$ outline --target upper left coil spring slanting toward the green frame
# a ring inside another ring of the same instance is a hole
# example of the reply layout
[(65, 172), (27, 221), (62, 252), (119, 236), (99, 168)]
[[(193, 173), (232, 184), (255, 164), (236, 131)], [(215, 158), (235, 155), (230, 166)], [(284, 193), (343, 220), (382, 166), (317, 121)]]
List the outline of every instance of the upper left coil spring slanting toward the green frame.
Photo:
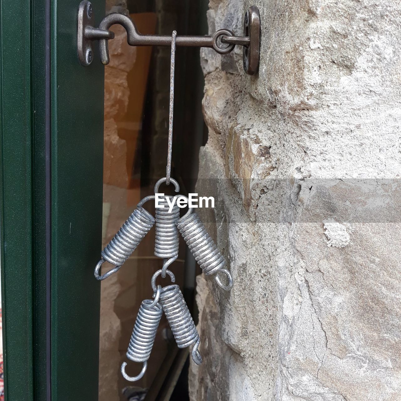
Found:
[[(146, 199), (146, 198), (144, 198)], [(143, 200), (141, 201), (143, 202)], [(98, 280), (104, 280), (109, 275), (115, 273), (121, 265), (130, 257), (132, 252), (142, 241), (143, 237), (153, 227), (154, 217), (146, 211), (142, 206), (135, 209), (123, 226), (119, 229), (114, 238), (101, 251), (101, 259), (95, 267), (95, 277)], [(105, 273), (99, 275), (99, 269), (105, 262), (109, 262), (115, 267)]]

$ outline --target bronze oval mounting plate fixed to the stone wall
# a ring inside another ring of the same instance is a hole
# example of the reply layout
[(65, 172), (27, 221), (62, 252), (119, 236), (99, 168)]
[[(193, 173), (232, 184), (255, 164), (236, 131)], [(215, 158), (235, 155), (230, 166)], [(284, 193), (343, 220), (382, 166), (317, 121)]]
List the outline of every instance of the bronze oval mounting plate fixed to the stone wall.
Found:
[(249, 7), (244, 17), (244, 36), (249, 36), (249, 46), (243, 47), (244, 70), (255, 75), (259, 68), (260, 15), (256, 6)]

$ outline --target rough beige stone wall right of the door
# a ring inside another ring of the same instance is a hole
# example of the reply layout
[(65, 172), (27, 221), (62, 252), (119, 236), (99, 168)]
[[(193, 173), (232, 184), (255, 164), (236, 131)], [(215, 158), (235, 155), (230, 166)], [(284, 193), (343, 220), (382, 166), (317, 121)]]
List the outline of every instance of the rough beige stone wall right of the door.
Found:
[[(235, 285), (198, 277), (191, 399), (399, 400), (401, 4), (252, 4), (259, 75), (202, 51), (200, 214)], [(252, 4), (212, 0), (211, 32)]]

